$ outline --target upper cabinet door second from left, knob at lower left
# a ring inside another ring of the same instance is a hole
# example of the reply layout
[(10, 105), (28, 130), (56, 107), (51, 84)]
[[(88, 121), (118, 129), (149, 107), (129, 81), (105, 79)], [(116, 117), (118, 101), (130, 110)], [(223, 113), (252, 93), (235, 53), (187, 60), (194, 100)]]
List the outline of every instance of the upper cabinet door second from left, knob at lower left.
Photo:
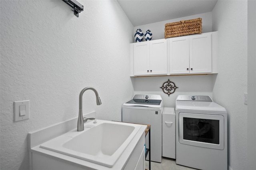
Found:
[(166, 39), (150, 42), (150, 73), (167, 74), (167, 41)]

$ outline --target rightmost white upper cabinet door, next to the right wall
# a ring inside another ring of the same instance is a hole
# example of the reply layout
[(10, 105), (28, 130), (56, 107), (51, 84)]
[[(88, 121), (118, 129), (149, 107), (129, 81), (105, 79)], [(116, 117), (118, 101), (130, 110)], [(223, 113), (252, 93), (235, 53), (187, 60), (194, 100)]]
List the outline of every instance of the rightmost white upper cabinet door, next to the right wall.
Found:
[(212, 72), (211, 33), (192, 35), (189, 41), (190, 73)]

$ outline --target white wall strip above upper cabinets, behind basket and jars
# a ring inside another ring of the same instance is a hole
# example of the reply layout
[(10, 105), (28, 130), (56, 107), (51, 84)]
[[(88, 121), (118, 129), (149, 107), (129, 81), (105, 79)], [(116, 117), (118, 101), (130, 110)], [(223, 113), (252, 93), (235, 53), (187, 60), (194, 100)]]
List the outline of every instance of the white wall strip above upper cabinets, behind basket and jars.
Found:
[[(207, 13), (197, 14), (193, 16), (186, 16), (182, 18), (176, 18), (172, 20), (166, 20), (166, 21), (160, 21), (160, 22), (150, 23), (146, 25), (136, 26), (134, 27), (134, 34), (136, 33), (136, 30), (138, 28), (140, 28), (144, 34), (149, 29), (153, 34), (152, 40), (162, 39), (164, 38), (164, 25), (166, 23), (178, 22), (180, 20), (191, 20), (195, 18), (202, 18), (202, 33), (207, 33), (212, 31), (212, 12), (207, 12)], [(145, 38), (143, 39), (143, 41), (145, 41)]]

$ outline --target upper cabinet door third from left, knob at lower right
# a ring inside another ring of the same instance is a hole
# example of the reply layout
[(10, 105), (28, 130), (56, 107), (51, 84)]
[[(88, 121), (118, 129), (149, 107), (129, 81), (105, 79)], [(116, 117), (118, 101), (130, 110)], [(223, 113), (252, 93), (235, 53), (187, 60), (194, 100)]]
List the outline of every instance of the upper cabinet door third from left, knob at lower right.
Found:
[(170, 74), (189, 73), (189, 37), (169, 39)]

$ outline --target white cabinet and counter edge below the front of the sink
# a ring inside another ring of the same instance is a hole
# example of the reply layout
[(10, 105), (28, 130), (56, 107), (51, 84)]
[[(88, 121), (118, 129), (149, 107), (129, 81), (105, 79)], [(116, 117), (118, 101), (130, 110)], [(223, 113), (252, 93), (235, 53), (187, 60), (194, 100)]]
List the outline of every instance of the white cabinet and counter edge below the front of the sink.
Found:
[(95, 165), (84, 160), (63, 156), (54, 152), (44, 152), (43, 150), (39, 150), (38, 152), (34, 149), (31, 153), (32, 164), (30, 170), (145, 170), (144, 143), (145, 136), (142, 134), (128, 160), (121, 160), (122, 162), (126, 162), (126, 164), (123, 166), (119, 164), (119, 161), (113, 168)]

